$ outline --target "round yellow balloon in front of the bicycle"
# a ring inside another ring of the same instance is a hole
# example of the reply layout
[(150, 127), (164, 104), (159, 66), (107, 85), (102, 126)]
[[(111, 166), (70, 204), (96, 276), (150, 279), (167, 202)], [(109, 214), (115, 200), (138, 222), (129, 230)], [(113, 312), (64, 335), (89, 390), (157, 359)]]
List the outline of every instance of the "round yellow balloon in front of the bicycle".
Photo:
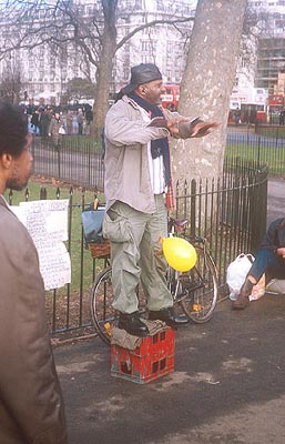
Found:
[(197, 253), (194, 246), (182, 238), (164, 238), (163, 254), (174, 270), (189, 271), (195, 266)]

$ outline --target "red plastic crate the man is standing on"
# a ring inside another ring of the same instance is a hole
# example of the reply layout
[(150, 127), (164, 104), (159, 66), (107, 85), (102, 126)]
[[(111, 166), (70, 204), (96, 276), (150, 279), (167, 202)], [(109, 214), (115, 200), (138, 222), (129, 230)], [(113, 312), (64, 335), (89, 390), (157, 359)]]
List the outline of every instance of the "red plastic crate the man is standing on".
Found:
[(175, 331), (146, 336), (134, 351), (111, 345), (111, 375), (145, 384), (174, 371)]

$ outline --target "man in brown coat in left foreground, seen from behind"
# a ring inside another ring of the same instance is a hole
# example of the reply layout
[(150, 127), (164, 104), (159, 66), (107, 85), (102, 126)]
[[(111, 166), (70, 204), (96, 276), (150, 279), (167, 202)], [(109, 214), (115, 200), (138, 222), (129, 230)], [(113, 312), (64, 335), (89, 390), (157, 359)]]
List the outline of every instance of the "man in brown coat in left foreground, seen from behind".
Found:
[(0, 443), (67, 444), (37, 250), (3, 198), (27, 185), (31, 140), (21, 112), (0, 102)]

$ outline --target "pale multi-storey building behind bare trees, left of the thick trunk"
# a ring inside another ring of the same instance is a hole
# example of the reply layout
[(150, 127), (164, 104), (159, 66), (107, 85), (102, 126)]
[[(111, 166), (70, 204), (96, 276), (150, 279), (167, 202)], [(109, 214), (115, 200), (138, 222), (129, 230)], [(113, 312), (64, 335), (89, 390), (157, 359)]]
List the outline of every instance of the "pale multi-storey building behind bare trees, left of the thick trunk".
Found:
[[(62, 11), (42, 9), (33, 10), (22, 16), (18, 24), (11, 16), (0, 18), (0, 42), (2, 48), (9, 47), (11, 39), (27, 44), (16, 49), (0, 60), (0, 79), (17, 78), (21, 83), (21, 98), (33, 99), (45, 103), (64, 102), (68, 82), (74, 78), (89, 79), (95, 83), (96, 53), (100, 53), (98, 36), (103, 32), (102, 10), (99, 0), (73, 0), (71, 11), (75, 11), (72, 24)], [(177, 0), (121, 0), (118, 8), (116, 32), (118, 42), (138, 27), (147, 22), (172, 21), (194, 16), (195, 1)], [(61, 12), (61, 13), (60, 13)], [(80, 18), (80, 20), (79, 20)], [(95, 18), (96, 26), (92, 26)], [(13, 23), (13, 26), (11, 24)], [(167, 82), (180, 82), (185, 63), (186, 44), (193, 21), (169, 24), (155, 24), (143, 28), (128, 40), (115, 53), (112, 84), (110, 92), (118, 91), (129, 80), (130, 67), (141, 62), (154, 62), (165, 73)], [(69, 27), (70, 26), (70, 34)], [(80, 38), (85, 39), (86, 52), (77, 39), (68, 37), (75, 34), (79, 28)], [(49, 39), (48, 29), (53, 30), (53, 39)], [(43, 29), (45, 36), (38, 38), (35, 30)], [(59, 38), (54, 33), (58, 30)], [(85, 34), (84, 34), (85, 33)], [(24, 36), (24, 37), (23, 37)], [(83, 36), (83, 37), (82, 37)], [(84, 37), (85, 36), (85, 37)], [(43, 43), (39, 44), (41, 41)], [(89, 52), (91, 54), (89, 54)], [(90, 56), (90, 57), (89, 57)], [(94, 63), (90, 62), (93, 58)]]

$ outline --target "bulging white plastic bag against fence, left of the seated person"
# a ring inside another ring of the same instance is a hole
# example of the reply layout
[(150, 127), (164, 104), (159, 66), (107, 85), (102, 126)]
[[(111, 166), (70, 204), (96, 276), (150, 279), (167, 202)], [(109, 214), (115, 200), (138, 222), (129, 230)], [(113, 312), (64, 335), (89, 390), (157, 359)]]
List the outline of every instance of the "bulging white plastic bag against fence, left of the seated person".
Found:
[(226, 283), (230, 289), (230, 299), (235, 301), (240, 294), (245, 278), (254, 262), (252, 254), (238, 254), (226, 270)]

